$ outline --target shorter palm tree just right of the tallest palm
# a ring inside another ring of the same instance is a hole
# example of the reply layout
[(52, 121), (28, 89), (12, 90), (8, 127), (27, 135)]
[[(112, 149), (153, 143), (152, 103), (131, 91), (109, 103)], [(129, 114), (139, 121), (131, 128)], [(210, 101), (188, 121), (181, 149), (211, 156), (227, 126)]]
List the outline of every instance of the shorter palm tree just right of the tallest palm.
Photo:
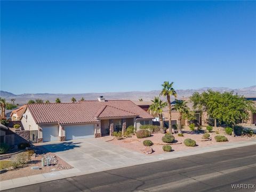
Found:
[(187, 106), (187, 101), (183, 101), (183, 100), (177, 100), (175, 99), (175, 104), (173, 106), (173, 110), (176, 110), (179, 112), (178, 115), (178, 133), (181, 133), (181, 119), (182, 116), (186, 117), (189, 115), (189, 108)]

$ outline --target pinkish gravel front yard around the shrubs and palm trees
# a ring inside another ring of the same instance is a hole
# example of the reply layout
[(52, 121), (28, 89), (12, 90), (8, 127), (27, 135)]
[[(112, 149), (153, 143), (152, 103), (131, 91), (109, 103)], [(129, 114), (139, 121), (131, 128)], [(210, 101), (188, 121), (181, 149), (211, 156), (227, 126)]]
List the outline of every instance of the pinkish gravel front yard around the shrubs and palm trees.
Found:
[[(205, 127), (203, 127), (203, 131), (206, 132)], [(216, 134), (215, 131), (219, 131), (219, 134)], [(193, 148), (193, 147), (187, 147), (184, 145), (183, 141), (187, 138), (190, 138), (190, 139), (193, 139), (196, 141), (196, 144), (197, 144), (196, 148), (197, 147), (207, 147), (207, 146), (212, 146), (212, 145), (222, 145), (223, 143), (225, 143), (225, 142), (216, 142), (214, 139), (215, 135), (225, 135), (228, 138), (228, 142), (247, 141), (247, 140), (251, 140), (252, 138), (256, 138), (255, 135), (254, 135), (254, 137), (251, 137), (251, 138), (244, 137), (244, 136), (243, 137), (229, 136), (225, 133), (225, 130), (221, 127), (217, 127), (217, 129), (216, 128), (213, 129), (213, 132), (210, 133), (210, 138), (211, 138), (210, 141), (202, 141), (203, 132), (201, 132), (201, 133), (191, 132), (191, 131), (189, 131), (188, 127), (186, 127), (186, 129), (183, 131), (184, 137), (178, 137), (177, 133), (175, 133), (173, 135), (175, 137), (175, 140), (177, 140), (176, 142), (172, 143), (172, 145), (171, 145), (172, 149), (175, 151)], [(154, 143), (154, 145), (151, 146), (154, 150), (154, 153), (151, 155), (169, 153), (169, 152), (164, 152), (162, 149), (163, 145), (161, 145), (161, 144), (167, 144), (167, 143), (162, 142), (163, 136), (164, 136), (164, 134), (162, 134), (162, 133), (152, 133), (151, 136), (148, 138), (137, 139), (137, 137), (135, 135), (133, 135), (131, 138), (126, 138), (126, 139), (122, 139), (122, 140), (114, 139), (114, 140), (111, 140), (108, 142), (113, 143), (114, 145), (118, 145), (118, 146), (121, 146), (121, 147), (124, 147), (127, 149), (131, 149), (131, 150), (143, 153), (143, 151), (146, 148), (145, 146), (143, 146), (143, 141), (151, 140)]]

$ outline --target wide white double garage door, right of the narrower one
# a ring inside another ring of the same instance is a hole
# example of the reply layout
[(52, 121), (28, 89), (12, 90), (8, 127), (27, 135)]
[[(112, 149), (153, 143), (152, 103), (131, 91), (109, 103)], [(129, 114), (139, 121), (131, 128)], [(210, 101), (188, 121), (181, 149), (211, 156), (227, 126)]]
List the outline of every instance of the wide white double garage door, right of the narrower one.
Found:
[(94, 138), (94, 124), (66, 125), (66, 140)]

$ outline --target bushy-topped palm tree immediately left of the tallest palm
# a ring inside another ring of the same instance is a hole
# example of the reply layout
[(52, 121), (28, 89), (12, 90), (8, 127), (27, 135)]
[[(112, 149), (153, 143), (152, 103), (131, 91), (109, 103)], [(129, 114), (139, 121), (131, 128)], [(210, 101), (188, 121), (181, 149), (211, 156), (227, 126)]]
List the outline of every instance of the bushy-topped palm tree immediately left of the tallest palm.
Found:
[(161, 99), (159, 99), (159, 97), (155, 97), (154, 100), (151, 101), (152, 104), (149, 106), (148, 110), (157, 113), (160, 120), (160, 127), (163, 128), (163, 108), (167, 106), (167, 103), (163, 102)]

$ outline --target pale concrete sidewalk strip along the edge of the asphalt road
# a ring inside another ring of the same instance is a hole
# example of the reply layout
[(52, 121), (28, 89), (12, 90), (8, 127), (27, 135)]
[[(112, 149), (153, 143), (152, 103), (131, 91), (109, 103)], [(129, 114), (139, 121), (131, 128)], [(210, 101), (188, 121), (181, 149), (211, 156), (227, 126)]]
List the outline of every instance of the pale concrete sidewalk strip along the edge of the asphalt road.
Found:
[[(105, 167), (102, 166), (102, 167), (98, 167), (98, 169), (94, 169), (94, 170), (81, 171), (77, 168), (74, 168), (74, 169), (70, 169), (70, 170), (55, 171), (55, 172), (50, 172), (50, 173), (31, 175), (29, 177), (1, 181), (0, 189), (1, 190), (11, 189), (11, 188), (16, 188), (16, 187), (21, 187), (21, 186), (33, 185), (35, 183), (59, 180), (59, 179), (64, 179), (64, 178), (68, 178), (68, 177), (75, 177), (75, 176), (83, 175), (83, 174), (89, 174), (89, 173), (117, 169), (117, 168), (122, 168), (122, 167), (127, 167), (127, 166), (163, 161), (166, 159), (172, 159), (172, 158), (178, 158), (178, 157), (184, 157), (184, 156), (196, 155), (196, 154), (203, 154), (203, 153), (209, 153), (212, 151), (225, 150), (225, 149), (244, 147), (244, 146), (250, 146), (250, 145), (256, 145), (256, 139), (252, 139), (250, 141), (224, 143), (223, 145), (215, 145), (215, 146), (211, 146), (211, 147), (191, 148), (188, 150), (173, 151), (171, 153), (150, 155), (150, 156), (143, 155), (143, 154), (140, 154), (137, 152), (133, 152), (133, 153), (129, 154), (129, 158), (132, 161), (127, 164), (120, 162), (120, 163), (114, 164), (113, 166), (105, 166)], [(139, 159), (138, 159), (138, 156), (140, 157)], [(141, 157), (143, 157), (143, 158), (141, 158)]]

